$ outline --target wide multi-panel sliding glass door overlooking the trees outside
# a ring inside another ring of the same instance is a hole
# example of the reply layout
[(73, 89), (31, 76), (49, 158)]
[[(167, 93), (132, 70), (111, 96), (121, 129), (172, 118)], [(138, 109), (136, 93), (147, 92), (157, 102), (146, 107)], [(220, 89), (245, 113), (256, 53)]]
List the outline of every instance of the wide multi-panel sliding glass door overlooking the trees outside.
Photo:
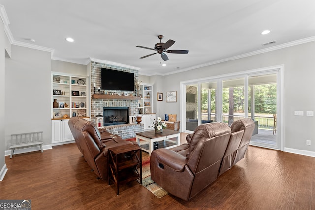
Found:
[(193, 132), (198, 125), (215, 121), (230, 126), (235, 120), (251, 118), (255, 123), (251, 144), (280, 149), (278, 70), (184, 83), (182, 131)]

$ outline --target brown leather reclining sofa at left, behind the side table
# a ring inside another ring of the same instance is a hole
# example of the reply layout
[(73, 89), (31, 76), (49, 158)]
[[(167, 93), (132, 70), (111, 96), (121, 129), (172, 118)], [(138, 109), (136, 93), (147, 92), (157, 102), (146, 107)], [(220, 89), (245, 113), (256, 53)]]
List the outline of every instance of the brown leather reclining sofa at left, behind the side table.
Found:
[[(138, 145), (125, 141), (117, 135), (111, 135), (106, 130), (103, 130), (102, 132), (105, 133), (101, 135), (94, 122), (79, 117), (70, 118), (68, 124), (84, 159), (102, 180), (107, 179), (108, 148), (126, 144)], [(102, 139), (101, 136), (104, 138)]]

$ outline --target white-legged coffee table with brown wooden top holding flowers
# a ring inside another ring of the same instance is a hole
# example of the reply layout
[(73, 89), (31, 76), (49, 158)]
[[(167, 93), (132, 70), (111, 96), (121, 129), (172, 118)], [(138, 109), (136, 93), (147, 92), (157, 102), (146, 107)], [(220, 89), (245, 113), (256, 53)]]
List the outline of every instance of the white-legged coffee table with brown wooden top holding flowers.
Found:
[(151, 152), (153, 151), (153, 142), (163, 141), (170, 138), (176, 138), (176, 145), (166, 148), (177, 147), (180, 144), (180, 132), (175, 130), (163, 129), (162, 133), (155, 133), (154, 130), (136, 133), (136, 140), (139, 145), (140, 139), (149, 142), (149, 150), (142, 148), (142, 150), (149, 152), (149, 155), (151, 155)]

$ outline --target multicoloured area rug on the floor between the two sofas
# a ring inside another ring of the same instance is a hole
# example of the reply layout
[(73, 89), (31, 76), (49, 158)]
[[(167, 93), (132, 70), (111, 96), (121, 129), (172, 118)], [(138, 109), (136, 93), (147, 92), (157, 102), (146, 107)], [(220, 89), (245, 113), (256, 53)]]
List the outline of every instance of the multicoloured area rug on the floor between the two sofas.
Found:
[[(127, 141), (136, 141), (135, 138), (125, 139)], [(141, 142), (140, 142), (141, 145)], [(140, 179), (137, 180), (140, 183)], [(162, 187), (158, 186), (153, 180), (151, 180), (150, 174), (150, 156), (147, 152), (142, 151), (142, 186), (152, 192), (158, 198), (162, 198), (167, 195)]]

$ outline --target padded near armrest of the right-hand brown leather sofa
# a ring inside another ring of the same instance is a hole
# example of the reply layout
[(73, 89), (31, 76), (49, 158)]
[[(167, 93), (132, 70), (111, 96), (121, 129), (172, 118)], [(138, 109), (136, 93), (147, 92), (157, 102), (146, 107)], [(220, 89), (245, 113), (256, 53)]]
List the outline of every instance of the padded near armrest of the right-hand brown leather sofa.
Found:
[[(165, 148), (160, 148), (158, 150), (153, 150), (156, 159), (164, 165), (172, 168), (174, 171), (183, 171), (187, 163), (187, 158), (176, 153), (175, 151), (168, 150)], [(151, 154), (151, 157), (153, 155)]]

